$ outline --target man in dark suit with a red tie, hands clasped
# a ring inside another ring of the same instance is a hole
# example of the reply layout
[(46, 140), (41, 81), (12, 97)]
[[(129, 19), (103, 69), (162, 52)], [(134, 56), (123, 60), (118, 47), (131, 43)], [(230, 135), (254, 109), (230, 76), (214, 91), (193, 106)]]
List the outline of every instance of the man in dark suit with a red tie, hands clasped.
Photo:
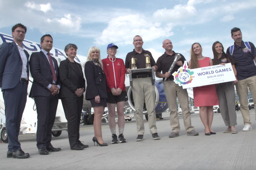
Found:
[(49, 152), (61, 150), (51, 144), (61, 82), (57, 60), (50, 55), (53, 48), (52, 36), (43, 35), (40, 44), (42, 50), (32, 53), (29, 60), (31, 76), (34, 79), (29, 97), (35, 99), (37, 110), (36, 146), (40, 155), (47, 155)]

